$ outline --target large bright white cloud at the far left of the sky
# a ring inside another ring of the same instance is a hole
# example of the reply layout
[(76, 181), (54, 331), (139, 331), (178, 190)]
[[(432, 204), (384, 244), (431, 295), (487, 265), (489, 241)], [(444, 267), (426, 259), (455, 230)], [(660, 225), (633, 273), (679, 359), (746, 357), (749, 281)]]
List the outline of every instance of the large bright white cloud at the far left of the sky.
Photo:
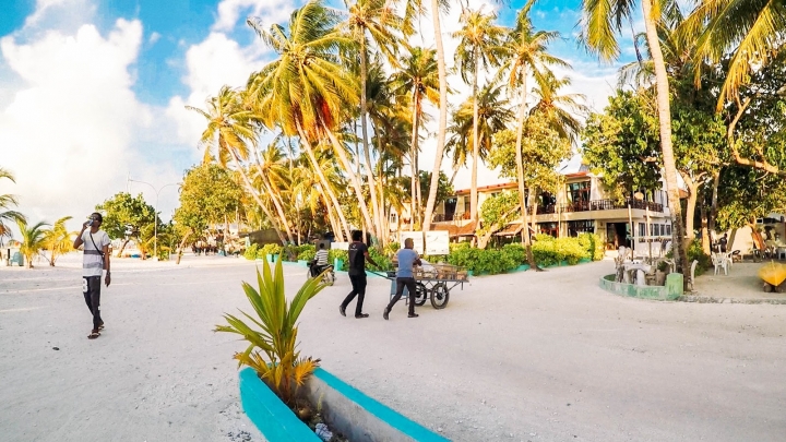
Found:
[(0, 146), (13, 153), (3, 167), (32, 220), (90, 213), (119, 190), (133, 134), (152, 118), (130, 89), (141, 38), (139, 22), (118, 20), (106, 38), (83, 25), (74, 35), (0, 40), (23, 82), (0, 109)]

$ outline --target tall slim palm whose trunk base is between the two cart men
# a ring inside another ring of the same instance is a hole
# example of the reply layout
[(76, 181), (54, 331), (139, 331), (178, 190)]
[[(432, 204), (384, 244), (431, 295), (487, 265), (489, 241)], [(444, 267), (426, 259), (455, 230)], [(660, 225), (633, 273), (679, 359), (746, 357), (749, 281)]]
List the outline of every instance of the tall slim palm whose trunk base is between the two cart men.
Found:
[(380, 204), (378, 201), (377, 183), (373, 179), (371, 155), (368, 142), (368, 36), (376, 43), (377, 48), (388, 58), (391, 65), (397, 65), (397, 55), (401, 38), (397, 32), (403, 29), (404, 22), (396, 15), (393, 5), (388, 0), (357, 0), (348, 8), (349, 15), (344, 23), (352, 38), (359, 44), (360, 49), (360, 128), (362, 131), (364, 159), (366, 163), (367, 181), (371, 193), (371, 207), (373, 210), (377, 236), (386, 242), (388, 235), (382, 229)]

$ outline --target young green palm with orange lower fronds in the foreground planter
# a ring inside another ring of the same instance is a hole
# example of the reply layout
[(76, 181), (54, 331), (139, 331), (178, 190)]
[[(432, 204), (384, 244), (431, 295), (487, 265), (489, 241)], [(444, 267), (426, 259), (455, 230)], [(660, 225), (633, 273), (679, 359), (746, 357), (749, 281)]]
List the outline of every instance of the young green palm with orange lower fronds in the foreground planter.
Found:
[[(266, 262), (261, 274), (257, 270), (257, 283), (259, 290), (248, 283), (242, 285), (255, 314), (240, 313), (250, 323), (227, 313), (224, 319), (228, 325), (216, 325), (215, 331), (235, 333), (248, 341), (249, 346), (243, 353), (235, 354), (235, 359), (240, 366), (254, 369), (285, 404), (294, 406), (298, 387), (319, 367), (319, 359), (301, 358), (297, 350), (297, 320), (309, 299), (327, 285), (322, 283), (321, 277), (309, 278), (287, 303), (281, 256), (274, 273)], [(254, 325), (261, 330), (254, 330)]]

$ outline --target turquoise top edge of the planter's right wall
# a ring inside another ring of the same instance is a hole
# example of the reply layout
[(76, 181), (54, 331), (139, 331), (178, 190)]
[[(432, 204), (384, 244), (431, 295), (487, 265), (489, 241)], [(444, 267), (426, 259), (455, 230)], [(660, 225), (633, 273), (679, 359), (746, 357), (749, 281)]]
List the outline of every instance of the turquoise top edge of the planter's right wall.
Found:
[(357, 404), (360, 408), (364, 408), (366, 411), (370, 413), (378, 419), (382, 420), (383, 422), (388, 423), (389, 426), (402, 432), (404, 435), (407, 435), (415, 441), (450, 442), (450, 439), (439, 435), (433, 431), (429, 430), (428, 428), (421, 426), (420, 423), (417, 423), (414, 420), (396, 413), (394, 409), (380, 403), (377, 399), (369, 397), (361, 391), (347, 384), (346, 382), (342, 381), (341, 379), (336, 378), (335, 375), (322, 368), (318, 368), (314, 371), (313, 375), (327, 384), (327, 386), (330, 386), (331, 389), (343, 394), (347, 399)]

